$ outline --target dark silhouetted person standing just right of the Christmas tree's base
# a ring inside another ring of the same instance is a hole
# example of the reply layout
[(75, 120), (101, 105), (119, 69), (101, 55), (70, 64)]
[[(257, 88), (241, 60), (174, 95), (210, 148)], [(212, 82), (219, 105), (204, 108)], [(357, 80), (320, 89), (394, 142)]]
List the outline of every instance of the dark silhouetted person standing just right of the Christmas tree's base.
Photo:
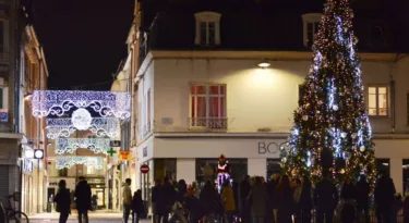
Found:
[(375, 187), (375, 203), (377, 222), (389, 223), (392, 218), (392, 207), (394, 205), (394, 196), (396, 189), (392, 178), (385, 173), (382, 173)]

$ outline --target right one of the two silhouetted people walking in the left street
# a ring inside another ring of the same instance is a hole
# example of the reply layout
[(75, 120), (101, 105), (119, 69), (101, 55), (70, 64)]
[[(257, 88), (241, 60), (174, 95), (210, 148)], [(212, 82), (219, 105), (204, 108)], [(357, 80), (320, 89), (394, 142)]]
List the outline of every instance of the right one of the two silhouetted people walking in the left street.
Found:
[(91, 208), (91, 187), (88, 183), (85, 181), (84, 176), (79, 177), (79, 183), (75, 186), (75, 206), (76, 210), (79, 211), (79, 223), (83, 222), (88, 223), (88, 210), (92, 210)]

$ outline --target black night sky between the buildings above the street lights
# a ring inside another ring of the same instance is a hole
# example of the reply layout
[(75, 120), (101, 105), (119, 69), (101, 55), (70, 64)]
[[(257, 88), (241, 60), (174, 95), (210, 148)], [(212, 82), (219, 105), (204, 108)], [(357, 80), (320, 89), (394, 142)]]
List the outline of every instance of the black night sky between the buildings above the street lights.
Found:
[(34, 25), (49, 88), (109, 89), (127, 57), (133, 7), (134, 0), (36, 0)]

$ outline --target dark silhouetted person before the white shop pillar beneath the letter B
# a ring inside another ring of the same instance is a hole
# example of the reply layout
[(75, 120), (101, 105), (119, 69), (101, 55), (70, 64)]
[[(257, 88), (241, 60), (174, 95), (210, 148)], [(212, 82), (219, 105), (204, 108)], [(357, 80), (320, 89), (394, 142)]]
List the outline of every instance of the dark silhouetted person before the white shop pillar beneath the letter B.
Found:
[(257, 176), (250, 193), (251, 216), (253, 223), (264, 223), (267, 213), (268, 194), (263, 178)]

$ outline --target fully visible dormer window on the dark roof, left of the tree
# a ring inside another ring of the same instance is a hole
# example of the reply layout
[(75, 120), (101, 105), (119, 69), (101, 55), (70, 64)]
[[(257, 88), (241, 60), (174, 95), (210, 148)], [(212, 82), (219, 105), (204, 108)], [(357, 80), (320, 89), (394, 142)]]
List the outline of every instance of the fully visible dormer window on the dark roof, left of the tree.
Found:
[(217, 12), (199, 12), (194, 14), (196, 20), (196, 36), (194, 44), (199, 46), (220, 45), (220, 17)]

